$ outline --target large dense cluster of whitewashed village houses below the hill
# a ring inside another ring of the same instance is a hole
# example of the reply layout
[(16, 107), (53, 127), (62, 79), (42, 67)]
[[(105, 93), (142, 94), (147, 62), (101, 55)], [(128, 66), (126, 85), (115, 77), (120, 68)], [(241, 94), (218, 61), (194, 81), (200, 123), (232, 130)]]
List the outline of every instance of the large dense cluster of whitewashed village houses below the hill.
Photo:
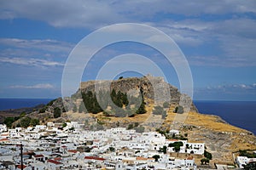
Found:
[[(170, 146), (175, 142), (183, 143), (178, 152), (188, 153), (187, 158), (170, 156), (177, 151)], [(79, 122), (14, 129), (0, 125), (0, 169), (21, 169), (21, 144), (24, 170), (196, 169), (193, 154), (202, 155), (205, 150), (203, 143), (166, 139), (157, 132), (137, 133), (125, 127), (90, 131)]]

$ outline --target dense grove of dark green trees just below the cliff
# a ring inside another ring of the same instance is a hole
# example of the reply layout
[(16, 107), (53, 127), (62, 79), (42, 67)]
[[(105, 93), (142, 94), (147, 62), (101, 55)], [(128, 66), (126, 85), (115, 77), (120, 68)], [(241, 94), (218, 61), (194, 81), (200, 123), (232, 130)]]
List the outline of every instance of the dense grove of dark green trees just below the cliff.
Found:
[[(128, 96), (120, 91), (116, 92), (115, 89), (111, 93), (101, 90), (98, 94), (88, 91), (82, 93), (82, 98), (84, 103), (79, 105), (79, 112), (96, 114), (103, 111), (105, 116), (117, 117), (131, 117), (147, 112), (143, 97)], [(134, 105), (134, 107), (131, 107), (131, 105)], [(107, 111), (108, 106), (111, 107), (111, 111)]]

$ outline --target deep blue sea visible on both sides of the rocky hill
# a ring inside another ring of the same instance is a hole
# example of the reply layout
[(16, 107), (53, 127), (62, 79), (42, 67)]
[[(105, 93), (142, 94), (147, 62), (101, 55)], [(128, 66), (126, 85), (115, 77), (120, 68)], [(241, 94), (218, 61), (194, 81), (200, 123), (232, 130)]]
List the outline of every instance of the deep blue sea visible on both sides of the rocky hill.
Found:
[[(47, 104), (52, 99), (0, 99), (0, 111)], [(194, 101), (198, 111), (216, 115), (236, 127), (256, 134), (256, 101)]]

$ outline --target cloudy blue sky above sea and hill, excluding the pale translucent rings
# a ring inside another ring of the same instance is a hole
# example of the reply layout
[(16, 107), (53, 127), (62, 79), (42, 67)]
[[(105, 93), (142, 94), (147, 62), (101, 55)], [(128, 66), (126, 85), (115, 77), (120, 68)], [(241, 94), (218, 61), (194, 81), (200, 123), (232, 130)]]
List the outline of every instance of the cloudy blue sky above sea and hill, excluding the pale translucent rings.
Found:
[[(254, 0), (2, 0), (0, 98), (60, 97), (62, 73), (73, 48), (92, 32), (119, 23), (152, 26), (172, 38), (189, 63), (193, 99), (256, 100)], [(99, 50), (81, 81), (96, 79), (102, 66), (121, 54), (153, 60), (166, 81), (180, 88), (177, 72), (163, 54), (138, 42)], [(126, 62), (132, 61), (137, 62)], [(147, 65), (142, 61), (141, 67)], [(119, 76), (142, 75), (126, 71)]]

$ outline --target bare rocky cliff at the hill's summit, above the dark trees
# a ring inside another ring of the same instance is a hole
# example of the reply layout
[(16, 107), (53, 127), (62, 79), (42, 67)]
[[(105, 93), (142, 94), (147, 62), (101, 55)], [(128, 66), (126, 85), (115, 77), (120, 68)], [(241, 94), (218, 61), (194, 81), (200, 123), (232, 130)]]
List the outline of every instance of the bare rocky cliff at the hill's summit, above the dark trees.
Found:
[[(191, 101), (189, 96), (180, 94), (178, 89), (165, 82), (163, 77), (131, 77), (115, 81), (81, 82), (77, 94), (80, 94), (81, 92), (86, 93), (88, 91), (95, 92), (96, 89), (108, 91), (114, 89), (116, 92), (120, 91), (129, 95), (137, 95), (141, 92), (146, 101), (150, 101), (156, 105), (162, 105), (165, 101), (171, 105), (179, 105), (181, 95), (188, 100), (187, 102)], [(194, 104), (191, 105), (190, 111), (197, 112)]]

